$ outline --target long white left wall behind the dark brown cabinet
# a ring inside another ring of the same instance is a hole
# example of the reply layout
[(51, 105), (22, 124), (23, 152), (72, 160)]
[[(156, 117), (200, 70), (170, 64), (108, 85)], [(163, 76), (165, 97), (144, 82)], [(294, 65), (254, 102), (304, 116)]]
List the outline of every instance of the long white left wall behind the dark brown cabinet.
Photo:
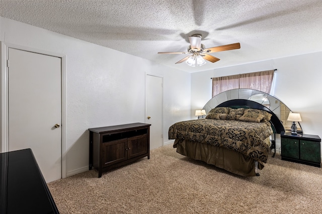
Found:
[(190, 74), (0, 17), (0, 41), (66, 55), (66, 172), (88, 170), (88, 128), (145, 122), (145, 75), (164, 77), (164, 142), (190, 119)]

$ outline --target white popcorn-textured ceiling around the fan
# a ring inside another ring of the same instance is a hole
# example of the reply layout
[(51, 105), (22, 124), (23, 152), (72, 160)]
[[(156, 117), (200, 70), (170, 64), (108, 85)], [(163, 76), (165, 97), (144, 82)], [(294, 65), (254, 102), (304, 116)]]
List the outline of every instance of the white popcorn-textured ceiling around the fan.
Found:
[[(0, 16), (187, 72), (322, 51), (321, 0), (0, 0)], [(188, 37), (202, 34), (212, 53), (201, 67), (175, 64)]]

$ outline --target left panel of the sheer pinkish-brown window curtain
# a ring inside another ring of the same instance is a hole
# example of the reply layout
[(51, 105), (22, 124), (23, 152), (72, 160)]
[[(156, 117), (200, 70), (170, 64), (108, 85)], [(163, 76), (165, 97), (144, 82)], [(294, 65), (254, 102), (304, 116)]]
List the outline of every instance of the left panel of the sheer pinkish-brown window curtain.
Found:
[(212, 78), (212, 97), (221, 92), (236, 88), (239, 88), (239, 74)]

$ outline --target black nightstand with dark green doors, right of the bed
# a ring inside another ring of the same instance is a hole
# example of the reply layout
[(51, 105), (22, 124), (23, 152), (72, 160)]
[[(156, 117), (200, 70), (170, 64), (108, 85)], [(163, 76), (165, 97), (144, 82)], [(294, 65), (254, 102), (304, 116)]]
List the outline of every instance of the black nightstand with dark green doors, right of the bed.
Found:
[(281, 132), (282, 160), (321, 167), (321, 138)]

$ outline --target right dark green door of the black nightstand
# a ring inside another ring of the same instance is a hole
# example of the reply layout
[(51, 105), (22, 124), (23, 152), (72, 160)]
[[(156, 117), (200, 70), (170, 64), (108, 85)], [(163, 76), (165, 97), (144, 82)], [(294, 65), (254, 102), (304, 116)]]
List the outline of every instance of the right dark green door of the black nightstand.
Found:
[(320, 162), (320, 142), (300, 140), (300, 159), (310, 162)]

